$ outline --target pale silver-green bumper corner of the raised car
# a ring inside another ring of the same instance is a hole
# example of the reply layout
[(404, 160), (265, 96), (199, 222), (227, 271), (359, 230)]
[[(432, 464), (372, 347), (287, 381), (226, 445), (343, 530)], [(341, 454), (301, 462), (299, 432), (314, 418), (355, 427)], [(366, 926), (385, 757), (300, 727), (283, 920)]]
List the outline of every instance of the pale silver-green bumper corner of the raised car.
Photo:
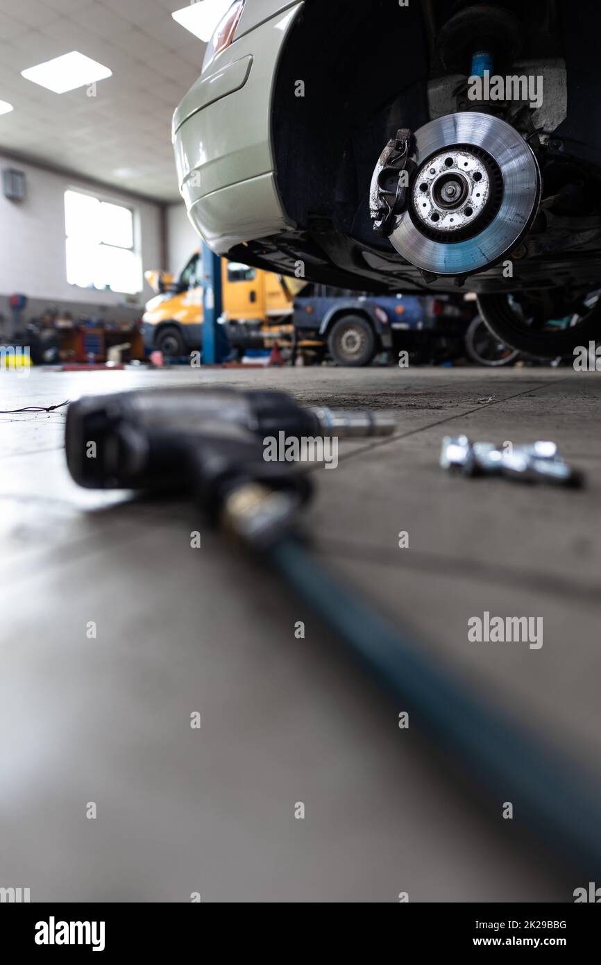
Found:
[(263, 0), (263, 6), (267, 14), (284, 9), (220, 54), (174, 115), (179, 191), (192, 224), (218, 254), (293, 227), (278, 194), (271, 97), (287, 32), (303, 3)]

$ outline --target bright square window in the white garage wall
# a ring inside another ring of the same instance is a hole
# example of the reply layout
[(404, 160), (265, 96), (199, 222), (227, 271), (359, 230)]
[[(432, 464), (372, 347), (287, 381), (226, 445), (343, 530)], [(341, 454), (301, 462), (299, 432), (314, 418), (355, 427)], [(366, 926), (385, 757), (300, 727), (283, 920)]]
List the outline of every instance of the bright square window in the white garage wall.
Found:
[(65, 233), (69, 285), (126, 294), (142, 290), (131, 208), (66, 191)]

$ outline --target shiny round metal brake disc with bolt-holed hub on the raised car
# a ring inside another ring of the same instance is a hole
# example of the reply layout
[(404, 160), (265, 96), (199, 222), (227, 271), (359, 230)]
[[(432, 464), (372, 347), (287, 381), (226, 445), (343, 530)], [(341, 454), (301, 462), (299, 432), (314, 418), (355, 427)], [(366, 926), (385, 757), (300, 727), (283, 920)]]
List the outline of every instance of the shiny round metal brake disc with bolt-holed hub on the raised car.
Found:
[(540, 199), (532, 149), (499, 118), (465, 112), (415, 133), (417, 172), (390, 240), (436, 275), (481, 271), (526, 234)]

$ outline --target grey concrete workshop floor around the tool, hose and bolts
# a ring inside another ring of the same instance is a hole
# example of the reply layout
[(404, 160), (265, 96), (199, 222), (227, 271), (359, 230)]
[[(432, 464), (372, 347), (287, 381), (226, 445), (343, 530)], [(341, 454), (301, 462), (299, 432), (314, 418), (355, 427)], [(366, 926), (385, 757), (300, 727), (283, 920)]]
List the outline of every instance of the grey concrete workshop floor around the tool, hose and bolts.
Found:
[[(598, 769), (601, 378), (2, 372), (0, 408), (214, 382), (395, 412), (395, 437), (343, 443), (336, 471), (315, 470), (315, 549), (480, 696)], [(0, 416), (0, 886), (34, 901), (572, 900), (585, 882), (400, 731), (307, 607), (193, 506), (72, 483), (63, 426), (64, 410)], [(555, 439), (587, 488), (448, 476), (440, 441), (460, 431)], [(543, 647), (468, 643), (484, 610), (542, 616)]]

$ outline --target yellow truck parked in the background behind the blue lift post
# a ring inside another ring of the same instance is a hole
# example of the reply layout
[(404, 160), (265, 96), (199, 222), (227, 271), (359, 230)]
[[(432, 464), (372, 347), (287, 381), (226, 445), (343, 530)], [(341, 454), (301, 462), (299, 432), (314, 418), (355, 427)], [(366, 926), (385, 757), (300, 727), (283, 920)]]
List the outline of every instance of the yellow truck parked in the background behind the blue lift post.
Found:
[[(178, 278), (147, 271), (156, 295), (142, 317), (144, 344), (167, 357), (187, 355), (203, 347), (203, 260), (194, 252)], [(270, 271), (239, 262), (221, 261), (223, 317), (233, 348), (270, 345), (291, 332), (292, 293)]]

